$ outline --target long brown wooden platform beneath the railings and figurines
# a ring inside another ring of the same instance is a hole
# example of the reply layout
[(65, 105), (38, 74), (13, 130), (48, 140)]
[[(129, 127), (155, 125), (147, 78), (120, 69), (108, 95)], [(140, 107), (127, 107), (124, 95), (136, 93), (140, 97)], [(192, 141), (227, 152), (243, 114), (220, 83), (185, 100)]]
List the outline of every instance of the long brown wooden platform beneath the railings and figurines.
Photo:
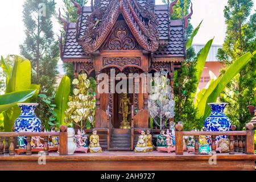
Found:
[[(216, 164), (209, 164), (212, 155), (184, 155), (163, 152), (116, 152), (60, 156), (51, 152), (46, 164), (38, 163), (39, 156), (2, 155), (0, 170), (254, 170), (256, 155), (237, 153), (217, 154)], [(43, 158), (40, 158), (43, 159)]]

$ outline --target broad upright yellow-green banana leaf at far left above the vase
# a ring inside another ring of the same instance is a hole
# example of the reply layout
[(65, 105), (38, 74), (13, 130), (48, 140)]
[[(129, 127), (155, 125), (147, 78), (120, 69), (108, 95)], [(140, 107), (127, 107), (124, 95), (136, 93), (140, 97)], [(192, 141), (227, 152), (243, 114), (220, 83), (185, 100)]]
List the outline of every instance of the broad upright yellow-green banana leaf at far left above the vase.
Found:
[[(13, 61), (13, 67), (8, 64), (8, 62)], [(6, 59), (1, 60), (1, 66), (5, 71), (6, 75), (6, 90), (5, 93), (13, 93), (22, 90), (29, 90), (29, 89), (39, 89), (39, 85), (31, 85), (31, 64), (28, 59), (25, 59), (20, 56), (9, 56)], [(9, 68), (9, 69), (6, 69)], [(11, 72), (10, 72), (11, 69)], [(36, 94), (39, 91), (34, 93), (33, 97), (36, 97)], [(27, 100), (28, 102), (30, 100)], [(11, 131), (14, 125), (14, 121), (20, 115), (20, 108), (19, 106), (15, 105), (10, 109), (3, 112), (3, 122), (5, 131)]]

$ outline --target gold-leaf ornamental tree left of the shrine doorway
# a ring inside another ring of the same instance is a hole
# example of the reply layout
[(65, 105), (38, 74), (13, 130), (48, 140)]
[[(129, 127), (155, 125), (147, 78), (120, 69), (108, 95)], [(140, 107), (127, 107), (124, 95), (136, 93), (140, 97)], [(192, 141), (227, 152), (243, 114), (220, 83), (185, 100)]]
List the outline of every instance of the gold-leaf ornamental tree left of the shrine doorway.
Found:
[(94, 126), (95, 98), (89, 93), (90, 80), (82, 73), (72, 82), (75, 86), (73, 96), (69, 96), (68, 109), (65, 111), (65, 122), (73, 123), (80, 129)]

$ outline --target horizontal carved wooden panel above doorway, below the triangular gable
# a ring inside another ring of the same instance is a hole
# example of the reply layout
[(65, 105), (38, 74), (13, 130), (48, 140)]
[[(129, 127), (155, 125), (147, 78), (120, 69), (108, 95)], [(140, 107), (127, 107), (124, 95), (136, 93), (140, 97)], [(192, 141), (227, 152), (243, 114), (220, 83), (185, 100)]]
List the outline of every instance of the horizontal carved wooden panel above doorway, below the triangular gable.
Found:
[(104, 57), (103, 67), (117, 66), (118, 68), (125, 68), (126, 65), (137, 65), (141, 67), (141, 57)]

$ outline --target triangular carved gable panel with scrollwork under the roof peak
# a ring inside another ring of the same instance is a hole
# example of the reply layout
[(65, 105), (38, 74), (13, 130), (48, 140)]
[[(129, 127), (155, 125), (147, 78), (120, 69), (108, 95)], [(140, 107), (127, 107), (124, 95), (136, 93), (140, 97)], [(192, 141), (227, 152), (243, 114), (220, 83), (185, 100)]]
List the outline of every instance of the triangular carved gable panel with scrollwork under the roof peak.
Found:
[(132, 50), (142, 49), (134, 38), (125, 20), (117, 20), (102, 50)]

